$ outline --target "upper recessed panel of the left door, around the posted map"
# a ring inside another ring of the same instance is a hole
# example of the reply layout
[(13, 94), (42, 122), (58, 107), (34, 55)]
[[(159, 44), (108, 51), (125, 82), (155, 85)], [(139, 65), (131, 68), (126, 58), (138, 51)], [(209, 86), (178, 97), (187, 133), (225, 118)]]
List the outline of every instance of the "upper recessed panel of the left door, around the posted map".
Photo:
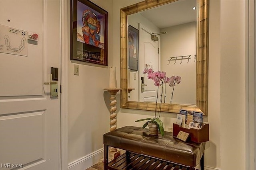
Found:
[[(26, 42), (28, 57), (0, 53), (0, 72), (4, 79), (0, 82), (0, 89), (10, 89), (1, 91), (1, 96), (42, 95), (42, 9), (40, 0), (1, 0), (1, 25), (35, 32), (40, 36), (38, 45)], [(12, 47), (18, 47), (19, 43), (20, 40), (10, 38)]]

